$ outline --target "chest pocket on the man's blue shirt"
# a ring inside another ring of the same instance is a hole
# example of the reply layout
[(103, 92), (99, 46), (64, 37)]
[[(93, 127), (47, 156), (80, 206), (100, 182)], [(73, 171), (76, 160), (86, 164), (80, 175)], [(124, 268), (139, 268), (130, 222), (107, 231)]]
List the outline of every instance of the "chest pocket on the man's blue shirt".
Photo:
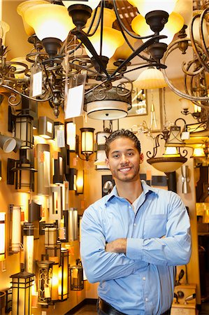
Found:
[(150, 239), (152, 237), (163, 237), (166, 235), (166, 215), (152, 214), (145, 219), (143, 237)]

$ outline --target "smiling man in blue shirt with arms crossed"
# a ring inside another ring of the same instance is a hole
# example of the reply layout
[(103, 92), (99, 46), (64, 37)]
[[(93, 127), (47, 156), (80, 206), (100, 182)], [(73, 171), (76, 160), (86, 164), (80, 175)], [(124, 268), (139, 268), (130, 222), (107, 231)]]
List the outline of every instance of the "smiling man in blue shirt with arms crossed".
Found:
[(175, 266), (189, 262), (189, 217), (180, 197), (140, 181), (140, 141), (129, 130), (106, 140), (115, 187), (82, 217), (81, 258), (99, 281), (98, 314), (170, 314)]

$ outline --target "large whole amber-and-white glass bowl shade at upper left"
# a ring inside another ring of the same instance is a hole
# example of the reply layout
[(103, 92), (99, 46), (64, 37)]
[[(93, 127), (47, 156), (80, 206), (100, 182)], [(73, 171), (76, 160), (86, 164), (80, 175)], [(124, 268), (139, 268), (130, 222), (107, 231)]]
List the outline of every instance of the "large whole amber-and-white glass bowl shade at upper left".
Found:
[(41, 41), (44, 38), (58, 38), (64, 41), (69, 31), (75, 27), (68, 10), (57, 4), (32, 6), (25, 11), (24, 18), (34, 28)]

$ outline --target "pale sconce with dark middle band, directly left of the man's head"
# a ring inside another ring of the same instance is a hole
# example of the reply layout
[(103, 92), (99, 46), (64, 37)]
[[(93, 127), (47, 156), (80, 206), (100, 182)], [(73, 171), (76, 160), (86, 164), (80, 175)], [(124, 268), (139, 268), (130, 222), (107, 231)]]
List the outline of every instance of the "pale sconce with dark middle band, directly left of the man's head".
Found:
[(110, 130), (103, 132), (96, 132), (96, 160), (94, 165), (96, 165), (97, 169), (109, 169), (106, 165), (106, 152), (104, 151), (104, 147), (106, 144), (106, 139), (110, 136)]

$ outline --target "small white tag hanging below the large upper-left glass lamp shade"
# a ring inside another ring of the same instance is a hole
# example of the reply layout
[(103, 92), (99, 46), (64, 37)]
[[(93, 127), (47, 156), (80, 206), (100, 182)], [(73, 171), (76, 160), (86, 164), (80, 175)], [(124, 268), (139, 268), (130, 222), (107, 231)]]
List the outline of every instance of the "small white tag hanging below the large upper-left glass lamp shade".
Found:
[(30, 97), (37, 97), (42, 94), (42, 78), (41, 65), (34, 64), (31, 67)]

